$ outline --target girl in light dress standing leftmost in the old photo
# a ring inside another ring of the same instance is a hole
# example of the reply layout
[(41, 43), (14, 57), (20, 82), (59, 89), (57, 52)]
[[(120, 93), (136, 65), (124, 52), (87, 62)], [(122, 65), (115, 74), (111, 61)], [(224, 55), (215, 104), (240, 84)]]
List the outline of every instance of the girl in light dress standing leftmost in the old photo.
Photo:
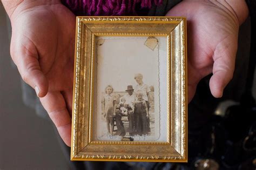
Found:
[(105, 95), (102, 99), (102, 114), (106, 118), (107, 132), (113, 135), (114, 130), (114, 105), (116, 98), (113, 95), (113, 87), (107, 85), (105, 88)]

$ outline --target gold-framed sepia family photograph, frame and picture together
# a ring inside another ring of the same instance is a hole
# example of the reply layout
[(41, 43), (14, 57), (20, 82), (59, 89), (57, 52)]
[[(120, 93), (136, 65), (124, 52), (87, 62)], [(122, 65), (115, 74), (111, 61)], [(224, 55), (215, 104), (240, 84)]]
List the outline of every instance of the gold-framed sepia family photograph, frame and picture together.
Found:
[(186, 162), (186, 19), (78, 17), (76, 32), (71, 160)]

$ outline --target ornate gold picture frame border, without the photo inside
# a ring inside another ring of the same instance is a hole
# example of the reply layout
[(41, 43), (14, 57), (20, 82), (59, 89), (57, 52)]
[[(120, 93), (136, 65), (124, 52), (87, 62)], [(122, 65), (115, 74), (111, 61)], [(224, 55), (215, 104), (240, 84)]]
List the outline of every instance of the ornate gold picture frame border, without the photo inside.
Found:
[[(99, 36), (166, 38), (166, 141), (93, 137)], [(186, 48), (184, 17), (77, 17), (71, 160), (187, 162)]]

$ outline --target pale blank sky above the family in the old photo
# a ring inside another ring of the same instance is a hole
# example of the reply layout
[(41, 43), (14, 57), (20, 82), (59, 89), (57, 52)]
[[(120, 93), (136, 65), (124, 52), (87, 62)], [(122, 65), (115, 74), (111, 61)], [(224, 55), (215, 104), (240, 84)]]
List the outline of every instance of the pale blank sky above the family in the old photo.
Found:
[(145, 46), (147, 37), (104, 39), (97, 50), (98, 88), (104, 91), (105, 86), (110, 84), (115, 91), (125, 91), (127, 85), (136, 85), (136, 73), (143, 74), (145, 84), (158, 85), (158, 46), (154, 50)]

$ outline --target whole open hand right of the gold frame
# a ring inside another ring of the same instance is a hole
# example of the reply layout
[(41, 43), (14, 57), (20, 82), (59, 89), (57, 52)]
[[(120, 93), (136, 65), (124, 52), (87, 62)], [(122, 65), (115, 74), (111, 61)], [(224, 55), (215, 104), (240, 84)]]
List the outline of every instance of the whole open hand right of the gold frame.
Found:
[(210, 73), (210, 90), (214, 97), (233, 77), (237, 53), (239, 24), (248, 9), (244, 1), (183, 1), (167, 16), (187, 18), (188, 101), (199, 81)]

